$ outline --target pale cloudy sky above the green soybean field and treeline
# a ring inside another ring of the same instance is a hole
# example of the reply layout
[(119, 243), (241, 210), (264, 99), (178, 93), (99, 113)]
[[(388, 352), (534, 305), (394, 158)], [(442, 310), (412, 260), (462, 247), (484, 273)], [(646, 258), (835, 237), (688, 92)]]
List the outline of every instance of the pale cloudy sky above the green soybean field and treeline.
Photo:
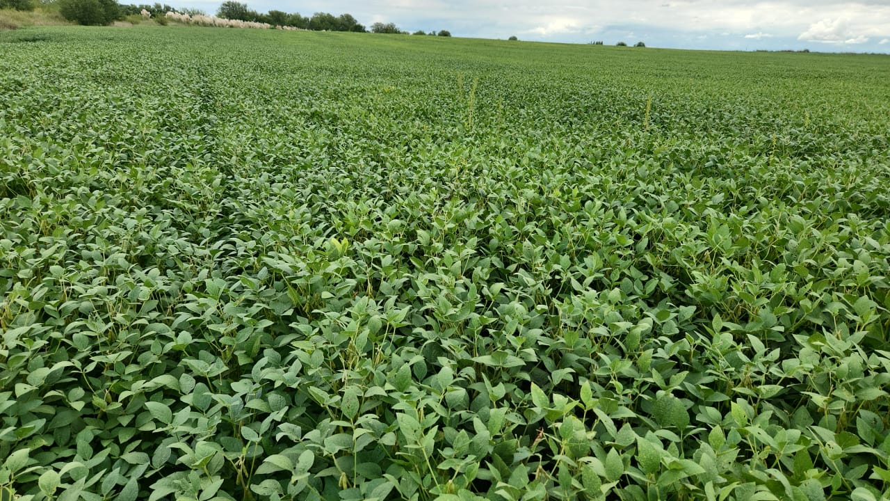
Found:
[[(245, 0), (240, 0), (245, 2)], [(221, 0), (167, 0), (214, 13)], [(247, 0), (312, 15), (352, 14), (370, 26), (448, 29), (454, 37), (714, 50), (803, 50), (890, 53), (890, 0)]]

